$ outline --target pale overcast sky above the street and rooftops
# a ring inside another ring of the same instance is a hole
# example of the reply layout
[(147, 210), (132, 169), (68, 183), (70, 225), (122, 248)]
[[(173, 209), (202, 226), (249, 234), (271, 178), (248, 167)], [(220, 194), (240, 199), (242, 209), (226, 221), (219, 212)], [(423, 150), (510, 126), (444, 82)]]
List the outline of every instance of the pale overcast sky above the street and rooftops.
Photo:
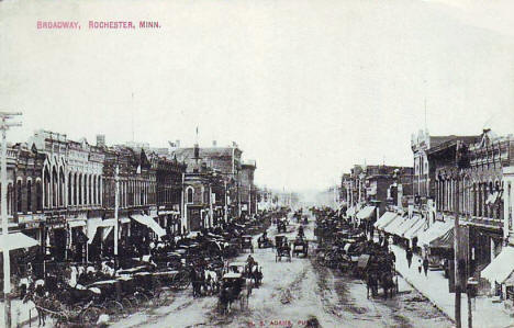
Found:
[(256, 159), (260, 185), (326, 188), (365, 160), (412, 166), (425, 99), (433, 135), (513, 133), (513, 38), (509, 1), (8, 0), (0, 109), (23, 111), (10, 140), (191, 145), (199, 125), (201, 146), (235, 140)]

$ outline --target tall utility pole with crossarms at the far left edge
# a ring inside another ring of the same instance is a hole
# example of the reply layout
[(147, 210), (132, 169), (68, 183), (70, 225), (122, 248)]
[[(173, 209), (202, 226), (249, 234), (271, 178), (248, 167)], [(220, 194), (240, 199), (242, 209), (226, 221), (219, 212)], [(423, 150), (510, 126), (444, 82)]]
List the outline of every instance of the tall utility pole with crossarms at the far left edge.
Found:
[[(20, 116), (22, 113), (0, 112), (2, 120), (2, 160), (1, 160), (1, 215), (2, 215), (2, 237), (7, 240), (9, 235), (9, 218), (7, 212), (7, 131), (11, 126), (21, 126), (20, 122), (9, 123), (9, 118)], [(11, 262), (9, 258), (9, 249), (3, 249), (3, 310), (4, 310), (4, 327), (11, 328)]]

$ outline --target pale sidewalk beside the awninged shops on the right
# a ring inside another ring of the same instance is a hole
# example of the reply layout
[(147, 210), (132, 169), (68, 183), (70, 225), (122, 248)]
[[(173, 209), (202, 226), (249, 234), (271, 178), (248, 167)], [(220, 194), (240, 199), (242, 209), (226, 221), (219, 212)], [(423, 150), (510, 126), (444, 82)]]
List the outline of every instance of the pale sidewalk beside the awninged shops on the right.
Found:
[[(444, 272), (428, 271), (428, 275), (425, 276), (422, 270), (420, 274), (417, 271), (418, 256), (414, 255), (411, 268), (409, 268), (405, 250), (396, 245), (392, 245), (391, 249), (396, 256), (396, 271), (406, 282), (455, 321), (455, 294), (448, 292), (448, 280), (445, 279)], [(473, 327), (514, 327), (514, 317), (507, 314), (504, 305), (500, 303), (493, 304), (489, 297), (476, 298), (476, 308), (472, 312), (472, 317)], [(461, 323), (462, 327), (468, 327), (468, 299), (465, 293), (461, 294)]]

